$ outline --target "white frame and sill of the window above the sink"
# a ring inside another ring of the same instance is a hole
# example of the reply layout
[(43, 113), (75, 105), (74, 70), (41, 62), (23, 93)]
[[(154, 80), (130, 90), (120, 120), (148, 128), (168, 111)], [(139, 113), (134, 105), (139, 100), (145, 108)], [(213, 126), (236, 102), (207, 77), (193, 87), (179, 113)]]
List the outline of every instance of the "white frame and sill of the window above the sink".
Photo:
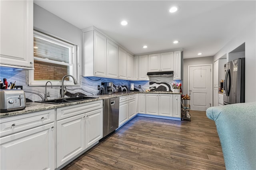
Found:
[[(78, 65), (77, 62), (79, 61), (79, 56), (78, 56), (79, 55), (79, 52), (78, 52), (79, 47), (78, 47), (78, 45), (75, 45), (72, 42), (68, 42), (67, 40), (64, 40), (62, 38), (58, 38), (56, 36), (50, 36), (48, 34), (44, 34), (42, 32), (38, 32), (36, 30), (34, 30), (33, 37), (34, 36), (38, 36), (40, 38), (50, 40), (51, 42), (54, 42), (54, 43), (62, 45), (62, 46), (71, 47), (70, 54), (72, 56), (70, 57), (70, 63), (54, 61), (54, 60), (47, 59), (47, 58), (44, 59), (44, 58), (40, 58), (40, 57), (34, 57), (34, 55), (33, 55), (33, 59), (34, 60), (36, 59), (38, 61), (44, 61), (44, 62), (49, 62), (49, 63), (54, 63), (54, 64), (61, 64), (61, 65), (70, 66), (70, 70), (69, 70), (70, 73), (69, 74), (73, 75), (76, 78), (78, 84), (74, 85), (73, 79), (70, 78), (70, 81), (65, 80), (64, 85), (66, 85), (66, 86), (78, 86), (78, 85), (80, 85), (79, 68), (77, 66)], [(33, 48), (33, 51), (34, 51), (34, 48)], [(34, 54), (34, 52), (33, 52), (33, 54)], [(47, 81), (51, 81), (53, 86), (61, 86), (61, 80), (42, 80), (42, 81), (34, 80), (34, 69), (33, 70), (28, 70), (26, 72), (27, 72), (26, 73), (26, 79), (27, 79), (26, 83), (29, 86), (45, 86)]]

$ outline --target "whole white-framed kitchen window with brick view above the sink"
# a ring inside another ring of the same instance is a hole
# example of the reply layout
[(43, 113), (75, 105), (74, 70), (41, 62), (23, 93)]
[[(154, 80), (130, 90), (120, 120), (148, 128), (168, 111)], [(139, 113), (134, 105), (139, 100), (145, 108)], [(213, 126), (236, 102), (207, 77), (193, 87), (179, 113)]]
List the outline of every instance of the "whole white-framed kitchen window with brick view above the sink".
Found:
[[(34, 70), (29, 71), (29, 85), (61, 85), (64, 75), (73, 75), (78, 79), (76, 70), (76, 45), (34, 30)], [(66, 77), (65, 85), (74, 85)]]

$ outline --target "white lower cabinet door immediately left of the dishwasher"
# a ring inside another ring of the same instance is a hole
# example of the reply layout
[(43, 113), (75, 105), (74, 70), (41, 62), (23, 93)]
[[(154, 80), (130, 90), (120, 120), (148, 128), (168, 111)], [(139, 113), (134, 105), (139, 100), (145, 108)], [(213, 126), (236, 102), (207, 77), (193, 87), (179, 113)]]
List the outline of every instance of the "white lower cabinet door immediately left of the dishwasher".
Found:
[(103, 109), (85, 114), (85, 147), (88, 148), (103, 136)]

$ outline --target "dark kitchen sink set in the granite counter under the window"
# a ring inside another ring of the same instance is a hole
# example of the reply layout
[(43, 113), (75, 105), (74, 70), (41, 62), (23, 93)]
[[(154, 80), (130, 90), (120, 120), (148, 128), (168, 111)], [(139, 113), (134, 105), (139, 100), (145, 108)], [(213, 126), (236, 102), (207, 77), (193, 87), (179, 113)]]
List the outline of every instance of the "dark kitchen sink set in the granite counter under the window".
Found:
[(67, 97), (67, 98), (60, 98), (60, 99), (52, 99), (52, 100), (42, 100), (42, 101), (35, 101), (39, 103), (50, 103), (50, 104), (62, 104), (62, 103), (70, 103), (75, 101), (83, 101), (83, 100), (90, 100), (90, 99), (97, 99), (98, 97), (88, 97), (88, 96), (80, 96), (80, 97)]

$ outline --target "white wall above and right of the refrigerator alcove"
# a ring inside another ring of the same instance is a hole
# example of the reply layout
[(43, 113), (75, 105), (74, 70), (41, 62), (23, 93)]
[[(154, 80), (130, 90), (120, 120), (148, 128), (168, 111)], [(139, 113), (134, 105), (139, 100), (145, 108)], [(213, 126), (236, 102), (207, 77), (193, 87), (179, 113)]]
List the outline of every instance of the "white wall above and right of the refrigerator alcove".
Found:
[(228, 42), (214, 61), (245, 42), (245, 102), (256, 101), (256, 19)]

